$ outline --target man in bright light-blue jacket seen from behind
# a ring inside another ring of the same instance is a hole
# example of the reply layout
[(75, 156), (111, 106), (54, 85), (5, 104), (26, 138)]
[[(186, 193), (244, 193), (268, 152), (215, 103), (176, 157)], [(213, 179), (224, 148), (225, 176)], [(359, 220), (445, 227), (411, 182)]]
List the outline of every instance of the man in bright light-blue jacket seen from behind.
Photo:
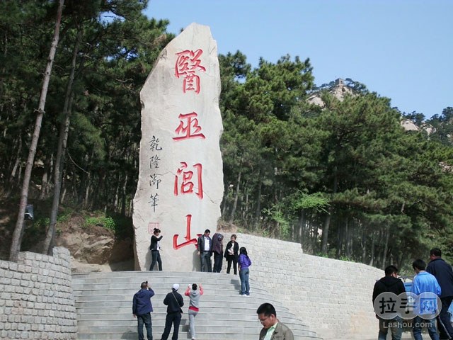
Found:
[[(413, 278), (413, 283), (411, 287), (411, 293), (415, 295), (420, 295), (422, 293), (433, 293), (433, 297), (440, 295), (440, 285), (437, 283), (435, 276), (425, 271), (426, 263), (425, 261), (418, 259), (413, 261), (412, 268), (417, 274)], [(436, 301), (437, 302), (437, 301)], [(435, 314), (432, 310), (420, 310), (420, 306), (416, 306), (417, 314)], [(435, 307), (437, 310), (437, 303), (434, 303), (432, 307)], [(423, 340), (422, 329), (423, 327), (428, 328), (428, 334), (432, 340), (439, 340), (439, 334), (437, 334), (435, 318), (432, 319), (422, 319), (420, 316), (416, 316), (412, 321), (412, 331), (413, 337), (415, 340)]]

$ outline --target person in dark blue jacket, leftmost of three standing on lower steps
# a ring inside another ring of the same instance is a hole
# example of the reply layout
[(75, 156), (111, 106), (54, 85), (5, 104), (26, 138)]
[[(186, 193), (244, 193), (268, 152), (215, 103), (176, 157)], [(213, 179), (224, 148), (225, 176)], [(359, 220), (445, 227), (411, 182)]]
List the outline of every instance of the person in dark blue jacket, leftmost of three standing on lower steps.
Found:
[(132, 314), (137, 317), (137, 331), (139, 332), (139, 340), (144, 340), (143, 324), (147, 327), (147, 338), (153, 340), (153, 328), (151, 324), (151, 297), (154, 296), (154, 290), (148, 285), (148, 281), (142, 282), (140, 290), (134, 294), (132, 300)]

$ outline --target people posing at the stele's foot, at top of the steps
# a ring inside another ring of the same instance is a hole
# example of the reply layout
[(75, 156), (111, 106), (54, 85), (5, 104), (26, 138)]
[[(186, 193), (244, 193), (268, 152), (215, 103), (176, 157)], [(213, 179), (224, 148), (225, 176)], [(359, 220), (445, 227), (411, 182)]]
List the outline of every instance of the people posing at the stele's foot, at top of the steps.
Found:
[[(229, 242), (226, 244), (225, 250), (223, 245), (224, 236), (219, 232), (216, 232), (211, 238), (210, 234), (210, 229), (206, 229), (205, 233), (200, 235), (197, 239), (197, 254), (200, 256), (201, 271), (220, 273), (220, 271), (222, 271), (222, 257), (224, 257), (228, 263), (226, 267), (227, 274), (231, 271), (231, 264), (233, 265), (234, 275), (237, 275), (239, 268), (239, 279), (241, 280), (241, 290), (239, 295), (249, 296), (250, 283), (248, 277), (252, 261), (248, 257), (247, 249), (244, 246), (239, 247), (238, 242), (236, 242), (236, 234), (231, 235)], [(160, 254), (161, 239), (161, 230), (154, 228), (151, 236), (151, 245), (149, 246), (152, 259), (151, 266), (149, 267), (150, 271), (154, 269), (156, 263), (159, 265), (159, 271), (162, 270)], [(211, 262), (212, 254), (214, 254), (214, 267), (212, 267)]]

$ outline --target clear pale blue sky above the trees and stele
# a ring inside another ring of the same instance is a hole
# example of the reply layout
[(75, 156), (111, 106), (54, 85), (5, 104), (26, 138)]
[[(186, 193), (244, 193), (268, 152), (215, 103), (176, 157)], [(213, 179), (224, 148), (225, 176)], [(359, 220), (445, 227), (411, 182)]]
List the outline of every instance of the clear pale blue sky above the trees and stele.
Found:
[(452, 0), (149, 0), (168, 32), (210, 26), (219, 53), (257, 67), (310, 58), (316, 85), (351, 78), (426, 118), (453, 106)]

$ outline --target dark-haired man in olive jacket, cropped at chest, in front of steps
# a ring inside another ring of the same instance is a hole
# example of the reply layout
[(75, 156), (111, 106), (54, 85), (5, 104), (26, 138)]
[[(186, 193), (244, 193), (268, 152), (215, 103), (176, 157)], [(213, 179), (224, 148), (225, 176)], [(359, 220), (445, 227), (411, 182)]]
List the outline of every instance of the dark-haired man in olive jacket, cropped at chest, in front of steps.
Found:
[(277, 319), (277, 312), (270, 303), (263, 303), (256, 310), (258, 319), (263, 324), (259, 340), (294, 340), (291, 329)]

